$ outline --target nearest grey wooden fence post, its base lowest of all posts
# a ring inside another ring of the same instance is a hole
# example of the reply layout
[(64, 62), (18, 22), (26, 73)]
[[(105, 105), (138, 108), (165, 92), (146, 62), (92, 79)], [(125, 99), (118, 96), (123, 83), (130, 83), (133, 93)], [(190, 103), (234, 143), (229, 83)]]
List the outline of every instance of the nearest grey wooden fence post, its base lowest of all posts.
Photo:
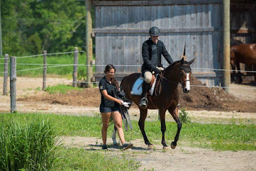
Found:
[(11, 113), (16, 113), (16, 57), (10, 58)]

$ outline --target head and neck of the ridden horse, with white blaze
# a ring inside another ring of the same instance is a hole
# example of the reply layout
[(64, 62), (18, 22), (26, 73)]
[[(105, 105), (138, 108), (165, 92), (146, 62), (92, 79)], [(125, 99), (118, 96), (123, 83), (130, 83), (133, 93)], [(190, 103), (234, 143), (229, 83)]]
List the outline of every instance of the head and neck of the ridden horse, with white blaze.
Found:
[(184, 93), (190, 91), (190, 77), (191, 77), (191, 63), (194, 59), (187, 62), (182, 58), (169, 65), (164, 71), (164, 77), (166, 77), (171, 82), (182, 85), (182, 90)]

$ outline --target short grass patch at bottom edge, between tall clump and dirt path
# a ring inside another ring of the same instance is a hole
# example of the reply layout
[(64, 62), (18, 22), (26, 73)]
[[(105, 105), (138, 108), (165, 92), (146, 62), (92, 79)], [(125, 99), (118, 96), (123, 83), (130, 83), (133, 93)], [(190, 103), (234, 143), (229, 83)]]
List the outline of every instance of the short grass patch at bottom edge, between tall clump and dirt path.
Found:
[(127, 155), (60, 147), (52, 170), (138, 170), (138, 167), (140, 163)]

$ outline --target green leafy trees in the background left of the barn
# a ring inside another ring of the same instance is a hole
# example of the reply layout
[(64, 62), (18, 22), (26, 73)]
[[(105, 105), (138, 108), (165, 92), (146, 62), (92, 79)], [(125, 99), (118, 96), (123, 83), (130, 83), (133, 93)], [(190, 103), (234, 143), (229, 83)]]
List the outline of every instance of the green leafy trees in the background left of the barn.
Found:
[[(84, 1), (1, 1), (3, 53), (67, 52), (86, 44)], [(93, 14), (93, 13), (92, 13)], [(94, 16), (93, 16), (94, 17)]]

